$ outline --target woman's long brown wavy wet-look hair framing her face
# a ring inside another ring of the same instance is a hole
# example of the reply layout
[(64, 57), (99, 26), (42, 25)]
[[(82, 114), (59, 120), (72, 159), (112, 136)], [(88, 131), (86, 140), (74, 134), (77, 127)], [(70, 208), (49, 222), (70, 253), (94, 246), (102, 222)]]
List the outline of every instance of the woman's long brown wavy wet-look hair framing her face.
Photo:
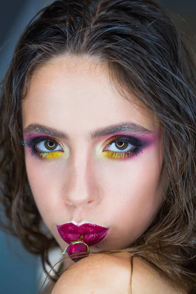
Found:
[[(193, 44), (157, 0), (56, 0), (26, 26), (1, 82), (0, 201), (7, 219), (1, 220), (1, 229), (41, 256), (46, 273), (46, 264), (52, 268), (49, 249), (59, 245), (43, 231), (29, 187), (21, 102), (36, 68), (57, 56), (85, 56), (106, 64), (117, 91), (122, 95), (126, 87), (158, 118), (164, 131), (163, 167), (169, 175), (161, 209), (144, 234), (129, 248), (99, 253), (130, 252), (172, 287), (196, 294)], [(61, 274), (55, 270), (50, 281)]]

